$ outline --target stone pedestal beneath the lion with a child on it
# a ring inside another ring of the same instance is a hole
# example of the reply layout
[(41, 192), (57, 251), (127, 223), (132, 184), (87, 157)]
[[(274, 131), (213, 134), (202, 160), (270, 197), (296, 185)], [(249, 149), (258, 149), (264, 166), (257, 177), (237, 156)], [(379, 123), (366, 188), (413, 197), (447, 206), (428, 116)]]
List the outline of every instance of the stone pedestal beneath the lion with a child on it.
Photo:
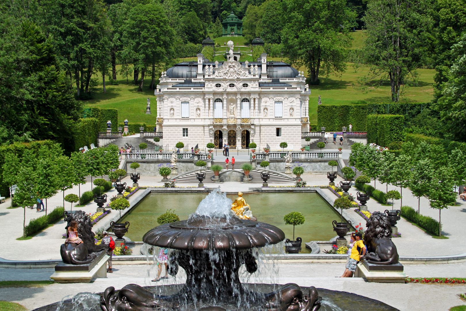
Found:
[(88, 264), (58, 263), (55, 273), (50, 276), (57, 283), (90, 283), (97, 277), (107, 277), (107, 261), (110, 256), (105, 251), (97, 253), (97, 258)]

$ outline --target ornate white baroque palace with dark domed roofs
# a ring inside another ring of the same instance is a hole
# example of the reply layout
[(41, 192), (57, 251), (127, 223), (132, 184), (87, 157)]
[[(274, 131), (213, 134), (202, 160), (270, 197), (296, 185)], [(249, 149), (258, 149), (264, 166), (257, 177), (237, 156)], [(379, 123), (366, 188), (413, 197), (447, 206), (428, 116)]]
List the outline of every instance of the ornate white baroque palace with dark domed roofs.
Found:
[[(231, 44), (230, 44), (231, 43)], [(310, 90), (301, 72), (284, 62), (237, 62), (233, 42), (226, 62), (181, 62), (162, 73), (157, 96), (157, 128), (164, 145), (181, 141), (205, 147), (301, 147), (308, 131)], [(258, 59), (259, 60), (259, 59)]]

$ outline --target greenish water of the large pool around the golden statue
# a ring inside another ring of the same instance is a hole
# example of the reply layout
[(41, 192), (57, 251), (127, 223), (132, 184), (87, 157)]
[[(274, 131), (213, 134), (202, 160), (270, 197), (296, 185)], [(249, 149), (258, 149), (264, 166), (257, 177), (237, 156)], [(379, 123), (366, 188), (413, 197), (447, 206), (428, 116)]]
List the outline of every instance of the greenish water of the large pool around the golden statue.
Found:
[[(130, 221), (126, 236), (131, 241), (142, 241), (143, 235), (151, 228), (158, 226), (157, 217), (167, 209), (174, 209), (180, 220), (188, 219), (207, 194), (148, 194), (123, 217)], [(236, 195), (228, 195), (232, 200)], [(258, 221), (267, 222), (281, 228), (288, 239), (293, 239), (293, 226), (285, 225), (283, 216), (290, 212), (301, 212), (306, 221), (295, 226), (295, 237), (301, 237), (302, 242), (328, 241), (336, 234), (332, 221), (340, 221), (339, 214), (330, 207), (317, 193), (274, 193), (274, 194), (244, 194), (251, 211)], [(302, 245), (302, 252), (308, 252)]]

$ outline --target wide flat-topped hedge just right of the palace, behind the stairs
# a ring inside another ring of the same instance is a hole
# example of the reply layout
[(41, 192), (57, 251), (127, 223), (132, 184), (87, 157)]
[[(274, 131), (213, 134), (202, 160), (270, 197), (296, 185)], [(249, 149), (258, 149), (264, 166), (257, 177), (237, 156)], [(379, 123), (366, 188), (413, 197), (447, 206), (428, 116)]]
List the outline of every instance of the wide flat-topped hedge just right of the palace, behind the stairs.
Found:
[(353, 125), (353, 131), (365, 131), (367, 105), (320, 105), (317, 107), (317, 125), (325, 131), (341, 131)]

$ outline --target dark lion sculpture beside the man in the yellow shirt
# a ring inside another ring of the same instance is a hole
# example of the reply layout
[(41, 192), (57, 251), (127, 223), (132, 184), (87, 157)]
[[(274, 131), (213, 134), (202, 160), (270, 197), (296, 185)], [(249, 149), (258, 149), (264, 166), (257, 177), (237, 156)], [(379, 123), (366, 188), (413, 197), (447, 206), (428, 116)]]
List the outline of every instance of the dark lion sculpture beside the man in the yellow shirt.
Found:
[(373, 264), (398, 263), (397, 247), (391, 241), (391, 224), (385, 213), (374, 212), (366, 223), (364, 244), (367, 247), (361, 259)]

